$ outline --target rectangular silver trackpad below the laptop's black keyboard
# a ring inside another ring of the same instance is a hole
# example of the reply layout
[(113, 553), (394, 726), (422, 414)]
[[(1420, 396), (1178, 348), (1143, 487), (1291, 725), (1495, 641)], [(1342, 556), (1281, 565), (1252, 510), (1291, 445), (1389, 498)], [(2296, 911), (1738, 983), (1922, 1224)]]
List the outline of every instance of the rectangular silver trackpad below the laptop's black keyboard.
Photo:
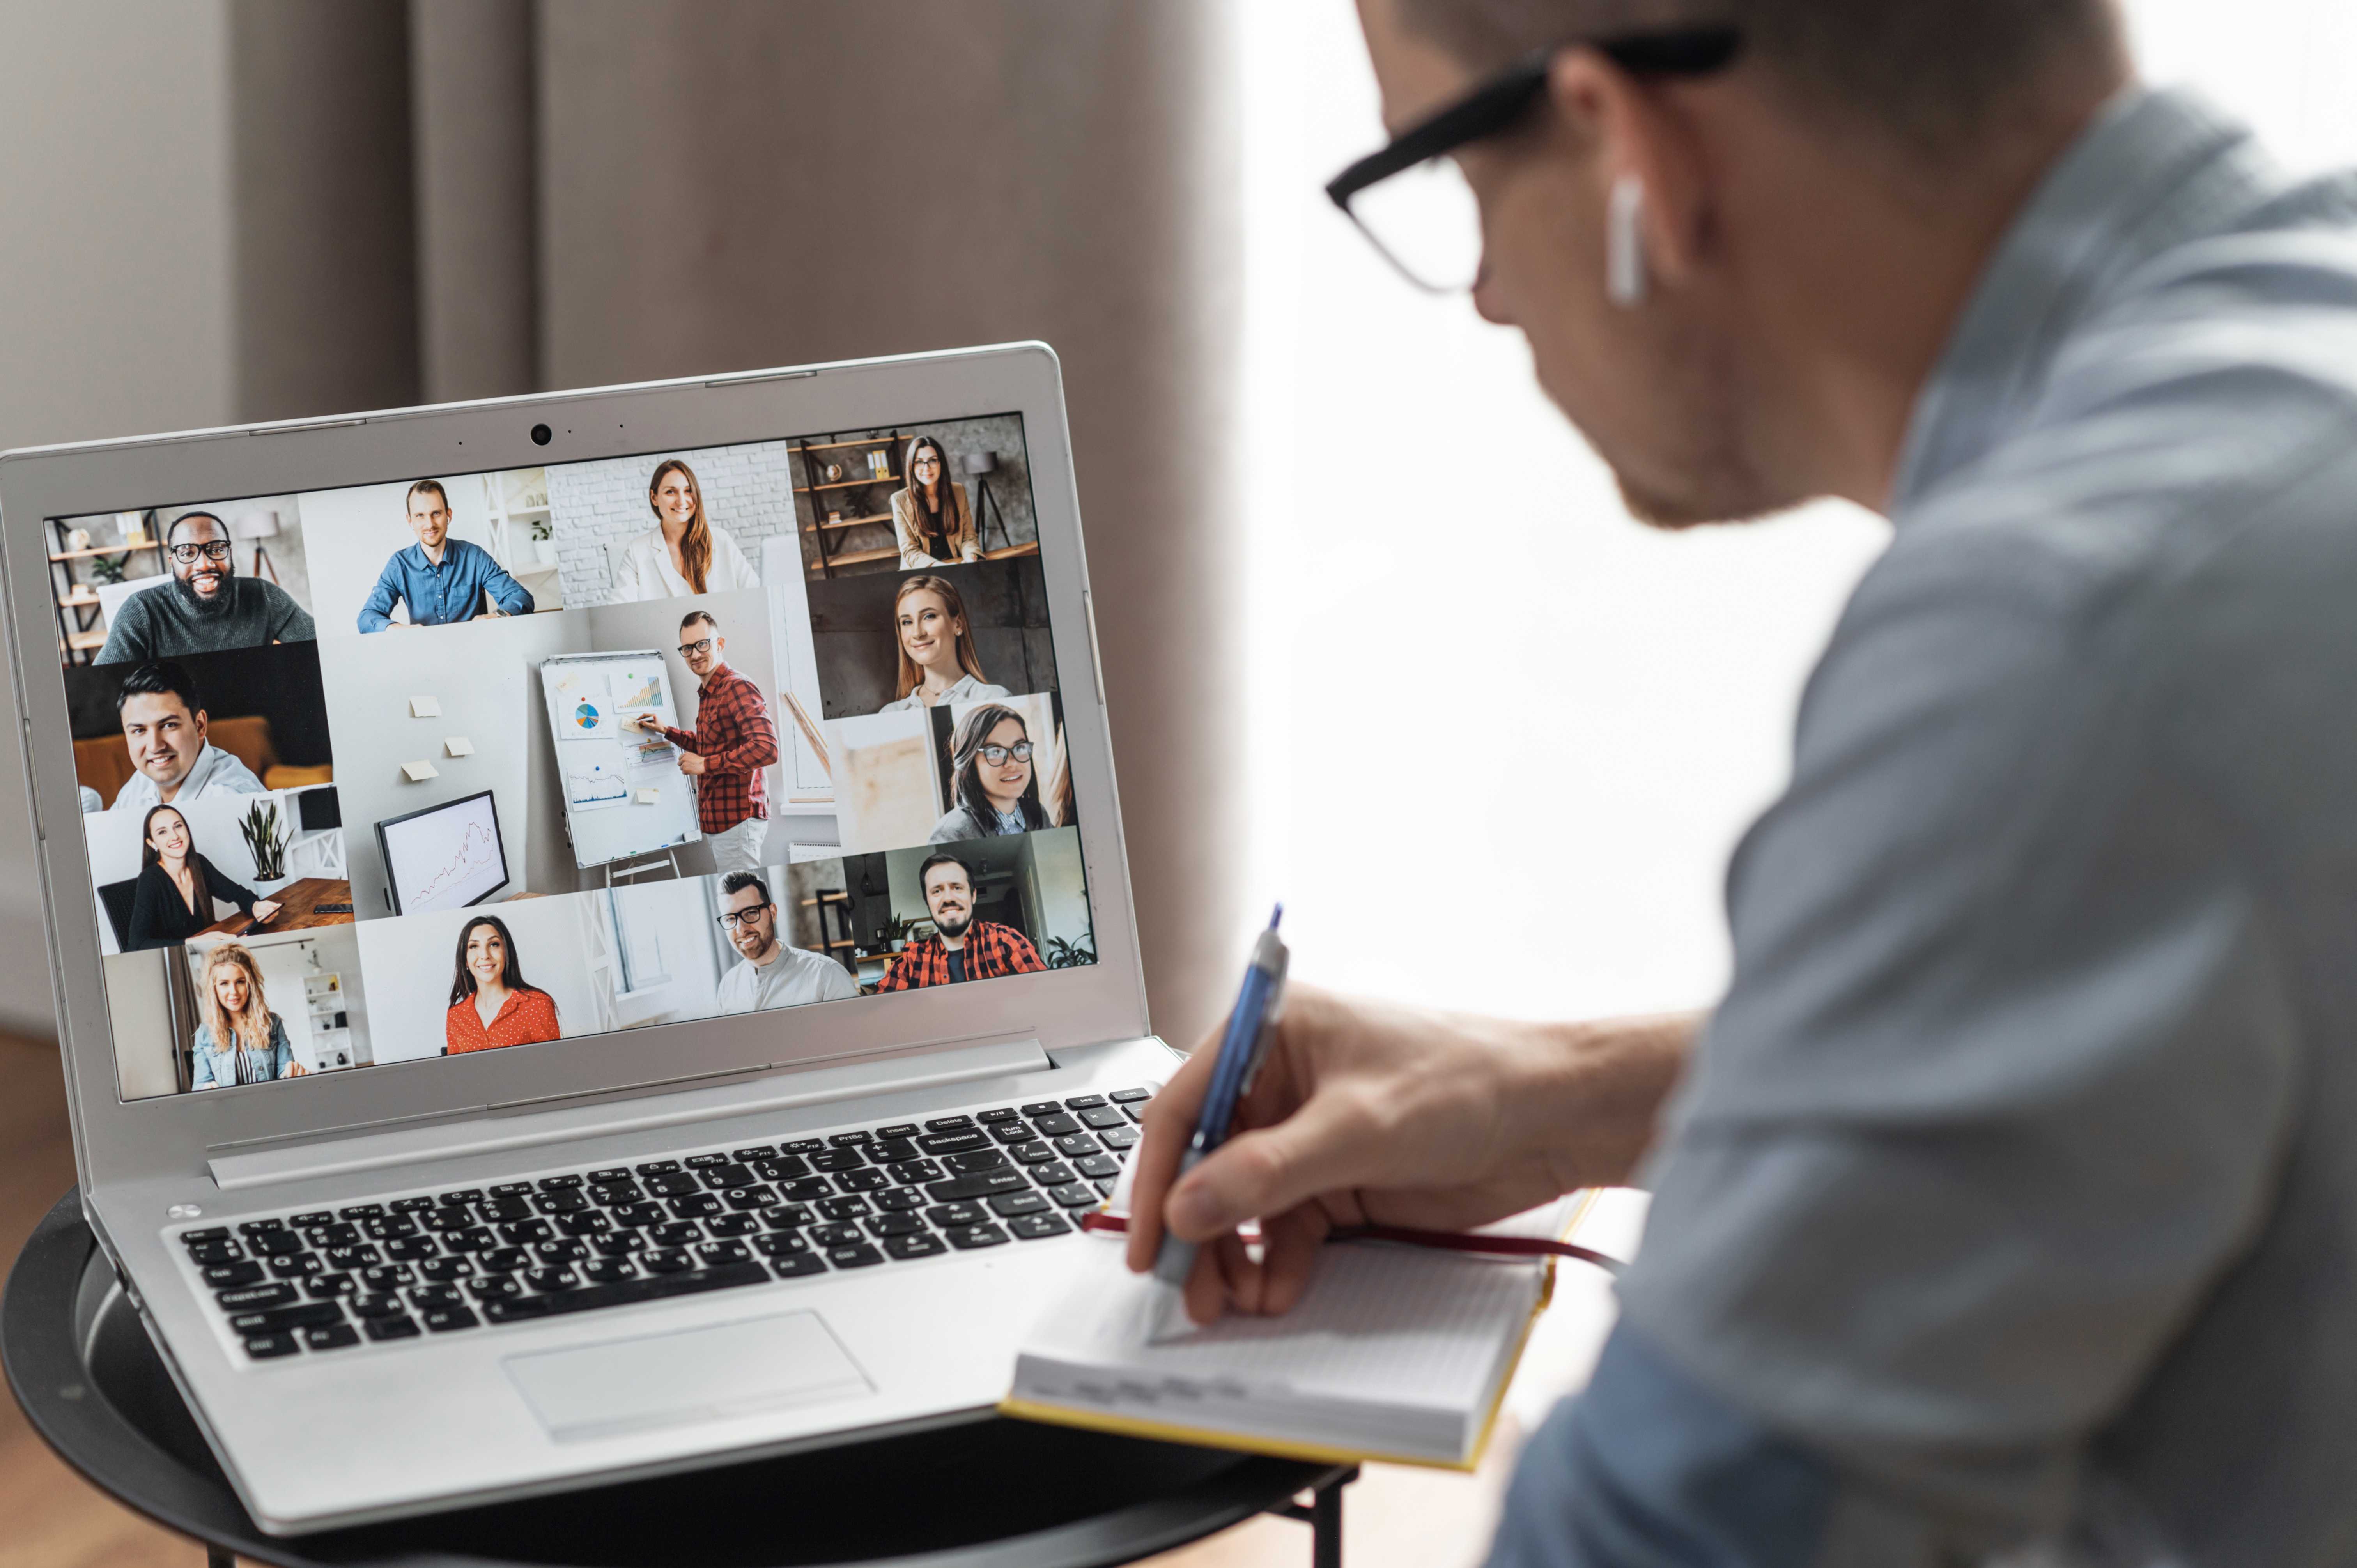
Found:
[(559, 1443), (874, 1394), (816, 1311), (509, 1356)]

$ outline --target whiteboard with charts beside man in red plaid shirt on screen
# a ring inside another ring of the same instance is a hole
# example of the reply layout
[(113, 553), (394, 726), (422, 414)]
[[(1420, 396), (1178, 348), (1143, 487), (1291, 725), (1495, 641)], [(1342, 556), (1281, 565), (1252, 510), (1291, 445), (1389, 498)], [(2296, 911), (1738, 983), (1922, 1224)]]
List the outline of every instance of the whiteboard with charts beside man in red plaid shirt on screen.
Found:
[(636, 729), (646, 712), (679, 726), (662, 653), (552, 658), (540, 665), (540, 691), (556, 736), (556, 788), (575, 865), (589, 870), (702, 837), (679, 747)]

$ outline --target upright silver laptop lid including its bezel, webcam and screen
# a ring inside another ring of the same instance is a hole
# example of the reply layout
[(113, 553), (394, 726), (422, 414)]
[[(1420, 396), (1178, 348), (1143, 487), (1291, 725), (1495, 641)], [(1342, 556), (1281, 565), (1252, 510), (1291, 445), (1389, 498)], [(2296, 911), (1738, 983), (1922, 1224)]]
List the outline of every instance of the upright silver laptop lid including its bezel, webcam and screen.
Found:
[(85, 1188), (1148, 1028), (1044, 344), (9, 453), (0, 519)]

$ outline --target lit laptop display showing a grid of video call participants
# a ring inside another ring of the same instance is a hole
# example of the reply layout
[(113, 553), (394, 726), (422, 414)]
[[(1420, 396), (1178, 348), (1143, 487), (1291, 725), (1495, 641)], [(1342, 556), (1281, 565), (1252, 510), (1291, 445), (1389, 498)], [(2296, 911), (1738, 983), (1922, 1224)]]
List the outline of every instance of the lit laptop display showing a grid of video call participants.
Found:
[(47, 531), (125, 1099), (1096, 962), (1021, 415)]

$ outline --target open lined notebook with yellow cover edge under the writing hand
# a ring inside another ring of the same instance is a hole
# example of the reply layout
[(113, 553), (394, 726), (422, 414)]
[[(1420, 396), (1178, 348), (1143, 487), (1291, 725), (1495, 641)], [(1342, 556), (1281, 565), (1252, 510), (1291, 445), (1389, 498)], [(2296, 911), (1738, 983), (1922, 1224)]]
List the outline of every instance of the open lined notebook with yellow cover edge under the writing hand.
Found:
[[(1570, 1238), (1593, 1193), (1490, 1226)], [(1341, 1243), (1282, 1318), (1221, 1318), (1148, 1344), (1150, 1276), (1120, 1238), (1032, 1327), (1004, 1415), (1299, 1460), (1473, 1469), (1553, 1290), (1553, 1261)]]

